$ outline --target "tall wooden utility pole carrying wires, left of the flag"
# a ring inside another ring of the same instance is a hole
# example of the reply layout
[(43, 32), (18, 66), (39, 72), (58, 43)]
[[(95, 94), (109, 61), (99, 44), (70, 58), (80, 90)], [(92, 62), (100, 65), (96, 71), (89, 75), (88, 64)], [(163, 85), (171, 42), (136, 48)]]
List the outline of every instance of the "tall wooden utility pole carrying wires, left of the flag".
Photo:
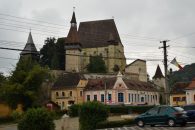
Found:
[(164, 41), (160, 41), (160, 43), (163, 43), (162, 47), (159, 47), (159, 49), (163, 48), (164, 51), (164, 69), (165, 69), (165, 101), (166, 104), (169, 105), (169, 98), (170, 98), (170, 91), (169, 91), (169, 84), (168, 84), (168, 75), (167, 75), (167, 71), (168, 71), (168, 66), (167, 66), (167, 47), (169, 47), (169, 45), (167, 46), (166, 43), (169, 42), (169, 40), (164, 40)]

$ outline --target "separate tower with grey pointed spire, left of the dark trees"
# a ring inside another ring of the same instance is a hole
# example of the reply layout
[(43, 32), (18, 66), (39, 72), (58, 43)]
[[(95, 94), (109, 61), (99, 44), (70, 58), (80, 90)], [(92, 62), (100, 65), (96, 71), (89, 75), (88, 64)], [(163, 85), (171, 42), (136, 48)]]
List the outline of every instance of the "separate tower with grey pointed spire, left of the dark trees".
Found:
[(29, 33), (27, 43), (20, 53), (20, 58), (29, 58), (31, 57), (32, 60), (39, 60), (39, 52), (37, 51), (35, 44), (33, 42), (32, 34)]

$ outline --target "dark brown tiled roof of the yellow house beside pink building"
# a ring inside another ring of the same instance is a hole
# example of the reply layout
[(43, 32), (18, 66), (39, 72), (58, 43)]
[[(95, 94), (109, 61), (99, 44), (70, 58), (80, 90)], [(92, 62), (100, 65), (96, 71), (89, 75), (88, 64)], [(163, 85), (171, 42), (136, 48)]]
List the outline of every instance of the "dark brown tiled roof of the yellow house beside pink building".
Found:
[(52, 89), (66, 89), (77, 87), (80, 79), (83, 76), (79, 73), (65, 73), (58, 77), (57, 81), (52, 86)]

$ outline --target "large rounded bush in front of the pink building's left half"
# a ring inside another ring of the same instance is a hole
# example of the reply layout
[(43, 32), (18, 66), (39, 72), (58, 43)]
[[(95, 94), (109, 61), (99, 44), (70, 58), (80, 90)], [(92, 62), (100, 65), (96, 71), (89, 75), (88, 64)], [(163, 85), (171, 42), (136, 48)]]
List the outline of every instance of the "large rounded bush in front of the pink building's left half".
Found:
[(96, 124), (105, 121), (108, 117), (108, 107), (100, 102), (86, 102), (80, 107), (80, 130), (94, 130)]

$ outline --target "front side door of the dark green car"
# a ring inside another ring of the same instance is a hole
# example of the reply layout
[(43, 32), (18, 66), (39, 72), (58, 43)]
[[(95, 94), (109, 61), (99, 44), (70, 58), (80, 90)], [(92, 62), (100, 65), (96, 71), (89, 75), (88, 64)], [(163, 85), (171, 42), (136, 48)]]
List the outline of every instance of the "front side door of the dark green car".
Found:
[(159, 110), (159, 107), (154, 107), (150, 109), (148, 112), (146, 112), (146, 115), (144, 117), (144, 121), (146, 124), (156, 123), (158, 110)]

